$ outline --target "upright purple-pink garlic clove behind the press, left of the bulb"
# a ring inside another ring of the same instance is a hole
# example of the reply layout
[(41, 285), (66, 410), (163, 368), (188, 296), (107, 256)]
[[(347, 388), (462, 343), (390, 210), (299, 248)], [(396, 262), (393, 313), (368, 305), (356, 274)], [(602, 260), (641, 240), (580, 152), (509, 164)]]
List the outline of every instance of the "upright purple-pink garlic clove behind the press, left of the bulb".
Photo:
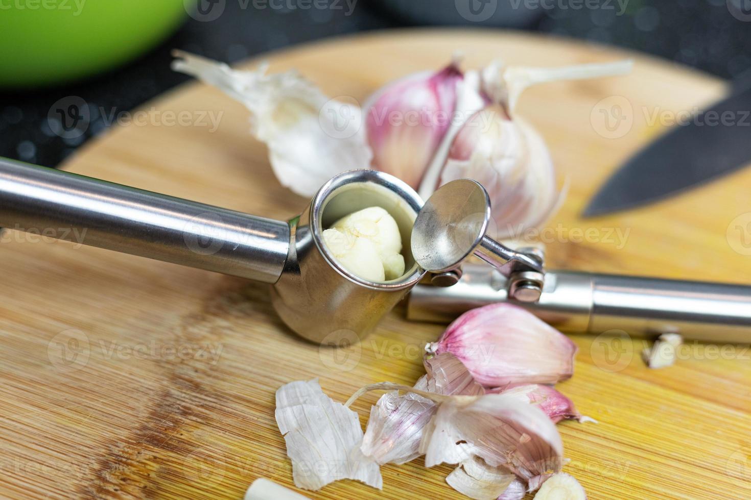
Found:
[(363, 108), (376, 169), (418, 187), (451, 125), (462, 80), (454, 62), (397, 80), (369, 98)]

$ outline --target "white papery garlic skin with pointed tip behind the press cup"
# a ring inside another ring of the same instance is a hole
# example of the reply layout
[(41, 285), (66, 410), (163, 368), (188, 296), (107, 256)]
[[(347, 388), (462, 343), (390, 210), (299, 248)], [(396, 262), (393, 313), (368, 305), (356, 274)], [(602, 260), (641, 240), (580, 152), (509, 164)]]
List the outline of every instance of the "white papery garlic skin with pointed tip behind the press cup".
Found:
[(294, 193), (312, 196), (334, 175), (369, 169), (372, 151), (362, 111), (329, 99), (294, 71), (267, 75), (266, 67), (232, 70), (227, 64), (174, 51), (173, 70), (214, 85), (251, 112), (251, 133), (269, 148), (276, 178)]

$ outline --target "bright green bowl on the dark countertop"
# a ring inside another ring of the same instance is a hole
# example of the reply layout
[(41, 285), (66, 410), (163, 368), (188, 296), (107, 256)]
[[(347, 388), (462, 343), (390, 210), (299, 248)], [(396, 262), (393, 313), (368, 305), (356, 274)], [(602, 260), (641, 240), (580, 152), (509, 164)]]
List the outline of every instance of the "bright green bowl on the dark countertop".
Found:
[(191, 0), (8, 0), (0, 3), (0, 87), (90, 76), (171, 34)]

